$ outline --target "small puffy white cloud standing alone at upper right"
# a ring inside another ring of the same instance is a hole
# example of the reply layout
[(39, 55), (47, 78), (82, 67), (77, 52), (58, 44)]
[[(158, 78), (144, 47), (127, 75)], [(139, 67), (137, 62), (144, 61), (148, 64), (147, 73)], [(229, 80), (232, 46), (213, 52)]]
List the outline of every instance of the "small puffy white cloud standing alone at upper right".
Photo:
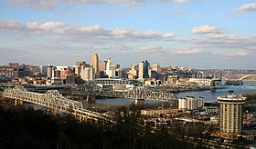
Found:
[(217, 26), (210, 25), (199, 25), (191, 29), (191, 32), (194, 34), (209, 34), (209, 33), (223, 33), (223, 30)]

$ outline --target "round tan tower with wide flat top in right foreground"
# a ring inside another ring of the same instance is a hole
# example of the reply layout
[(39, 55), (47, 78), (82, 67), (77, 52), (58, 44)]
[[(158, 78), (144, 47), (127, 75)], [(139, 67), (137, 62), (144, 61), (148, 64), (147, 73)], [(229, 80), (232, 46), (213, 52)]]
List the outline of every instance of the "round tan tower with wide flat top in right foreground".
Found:
[(245, 103), (246, 97), (230, 94), (219, 96), (217, 99), (220, 107), (220, 133), (224, 137), (236, 137), (241, 133), (242, 105)]

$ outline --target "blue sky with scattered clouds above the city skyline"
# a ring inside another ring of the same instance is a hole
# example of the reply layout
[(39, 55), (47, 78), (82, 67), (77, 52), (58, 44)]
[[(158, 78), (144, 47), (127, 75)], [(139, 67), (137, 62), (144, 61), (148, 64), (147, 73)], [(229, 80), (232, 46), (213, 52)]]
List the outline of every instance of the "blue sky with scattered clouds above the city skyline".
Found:
[(0, 65), (256, 69), (256, 1), (1, 0)]

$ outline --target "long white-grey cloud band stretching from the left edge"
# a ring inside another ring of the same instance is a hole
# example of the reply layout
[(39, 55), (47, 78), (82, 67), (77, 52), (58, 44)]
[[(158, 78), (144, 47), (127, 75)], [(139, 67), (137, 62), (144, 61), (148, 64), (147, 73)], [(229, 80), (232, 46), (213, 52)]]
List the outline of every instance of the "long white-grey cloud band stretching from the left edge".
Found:
[(173, 33), (159, 33), (156, 31), (143, 31), (133, 28), (106, 29), (102, 25), (82, 26), (68, 25), (63, 22), (28, 22), (22, 24), (18, 21), (0, 21), (0, 34), (22, 36), (57, 36), (62, 40), (76, 42), (90, 41), (141, 41), (166, 40), (173, 38)]

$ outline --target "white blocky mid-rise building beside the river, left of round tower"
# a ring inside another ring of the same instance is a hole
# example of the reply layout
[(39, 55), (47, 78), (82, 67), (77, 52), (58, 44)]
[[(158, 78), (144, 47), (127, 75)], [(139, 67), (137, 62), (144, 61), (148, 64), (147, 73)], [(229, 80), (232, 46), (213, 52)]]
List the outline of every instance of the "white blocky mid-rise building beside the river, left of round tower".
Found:
[(185, 98), (178, 99), (178, 108), (180, 110), (196, 110), (202, 109), (205, 104), (203, 97), (187, 96)]

